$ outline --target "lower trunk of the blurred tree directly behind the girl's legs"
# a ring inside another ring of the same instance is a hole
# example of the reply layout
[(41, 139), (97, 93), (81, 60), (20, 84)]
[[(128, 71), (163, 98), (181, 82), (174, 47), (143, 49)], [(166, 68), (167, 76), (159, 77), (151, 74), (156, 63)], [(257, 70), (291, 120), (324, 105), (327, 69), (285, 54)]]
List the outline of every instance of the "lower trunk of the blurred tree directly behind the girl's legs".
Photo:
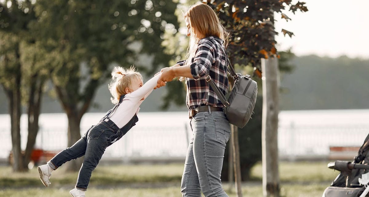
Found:
[[(81, 119), (73, 113), (67, 113), (68, 116), (68, 147), (73, 146), (80, 138), (80, 122)], [(83, 157), (76, 160), (70, 160), (66, 163), (66, 171), (78, 171), (82, 165)]]

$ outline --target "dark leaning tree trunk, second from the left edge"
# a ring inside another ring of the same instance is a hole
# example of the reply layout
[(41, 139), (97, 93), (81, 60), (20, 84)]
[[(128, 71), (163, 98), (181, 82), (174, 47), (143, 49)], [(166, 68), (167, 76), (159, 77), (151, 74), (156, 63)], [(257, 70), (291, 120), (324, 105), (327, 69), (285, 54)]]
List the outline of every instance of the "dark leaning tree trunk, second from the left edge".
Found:
[(42, 86), (45, 79), (40, 79), (36, 74), (32, 76), (30, 82), (30, 95), (28, 98), (28, 137), (27, 146), (24, 153), (24, 167), (27, 168), (31, 160), (31, 154), (36, 143), (39, 129), (38, 119), (41, 111)]

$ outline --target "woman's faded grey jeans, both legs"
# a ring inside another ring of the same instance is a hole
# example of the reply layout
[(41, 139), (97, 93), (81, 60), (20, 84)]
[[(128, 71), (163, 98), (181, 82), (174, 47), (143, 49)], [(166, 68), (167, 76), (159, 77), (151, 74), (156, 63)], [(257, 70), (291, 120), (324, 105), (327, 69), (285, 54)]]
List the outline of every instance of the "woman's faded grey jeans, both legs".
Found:
[(224, 112), (199, 112), (191, 120), (189, 144), (182, 176), (183, 197), (228, 197), (221, 186), (225, 144), (231, 128)]

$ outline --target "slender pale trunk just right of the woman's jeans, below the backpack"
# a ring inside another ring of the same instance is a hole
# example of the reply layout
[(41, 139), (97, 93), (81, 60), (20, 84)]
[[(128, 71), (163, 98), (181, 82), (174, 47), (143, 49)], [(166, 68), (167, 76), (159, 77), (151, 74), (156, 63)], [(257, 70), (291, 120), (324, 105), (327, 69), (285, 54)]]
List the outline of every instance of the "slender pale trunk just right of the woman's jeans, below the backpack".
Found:
[(233, 168), (234, 178), (236, 185), (236, 197), (242, 197), (242, 186), (241, 186), (241, 164), (239, 161), (239, 144), (238, 144), (238, 128), (237, 126), (231, 126), (232, 135), (232, 149), (233, 149)]

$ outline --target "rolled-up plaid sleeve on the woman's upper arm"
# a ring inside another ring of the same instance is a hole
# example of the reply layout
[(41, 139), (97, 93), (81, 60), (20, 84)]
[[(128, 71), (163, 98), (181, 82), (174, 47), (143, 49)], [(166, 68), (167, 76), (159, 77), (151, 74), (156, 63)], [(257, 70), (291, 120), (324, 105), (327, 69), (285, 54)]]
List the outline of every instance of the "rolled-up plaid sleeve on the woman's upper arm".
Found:
[(194, 79), (206, 76), (213, 64), (213, 47), (207, 43), (201, 43), (197, 46), (193, 63), (190, 65), (191, 74)]

